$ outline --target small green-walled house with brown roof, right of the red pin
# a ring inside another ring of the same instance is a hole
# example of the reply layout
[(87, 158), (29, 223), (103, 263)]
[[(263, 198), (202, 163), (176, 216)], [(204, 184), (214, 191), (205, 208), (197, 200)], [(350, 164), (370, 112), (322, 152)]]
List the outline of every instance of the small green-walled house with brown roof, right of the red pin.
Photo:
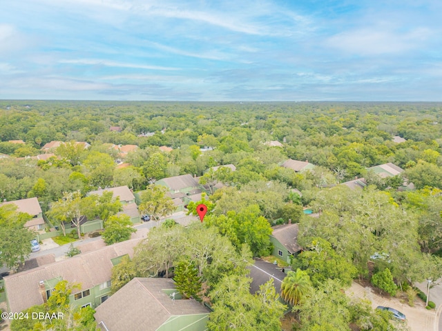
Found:
[(271, 254), (291, 263), (291, 257), (296, 257), (302, 250), (298, 245), (298, 231), (298, 223), (273, 226), (273, 232), (270, 235), (270, 241), (273, 244)]

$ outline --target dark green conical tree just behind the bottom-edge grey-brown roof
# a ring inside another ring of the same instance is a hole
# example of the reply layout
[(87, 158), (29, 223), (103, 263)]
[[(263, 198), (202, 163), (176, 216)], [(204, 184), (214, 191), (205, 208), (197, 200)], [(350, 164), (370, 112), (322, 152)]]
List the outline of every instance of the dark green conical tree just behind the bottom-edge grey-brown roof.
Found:
[(201, 277), (198, 276), (198, 269), (193, 261), (181, 261), (175, 267), (173, 278), (177, 290), (184, 299), (200, 299), (198, 293), (202, 290)]

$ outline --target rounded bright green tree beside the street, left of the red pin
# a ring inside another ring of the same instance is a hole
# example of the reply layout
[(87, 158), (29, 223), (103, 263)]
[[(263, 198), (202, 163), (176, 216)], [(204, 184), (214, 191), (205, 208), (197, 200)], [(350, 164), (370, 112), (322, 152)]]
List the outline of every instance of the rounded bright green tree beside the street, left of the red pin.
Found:
[(106, 245), (112, 245), (113, 243), (131, 239), (131, 234), (136, 231), (128, 215), (113, 215), (104, 222), (102, 238)]

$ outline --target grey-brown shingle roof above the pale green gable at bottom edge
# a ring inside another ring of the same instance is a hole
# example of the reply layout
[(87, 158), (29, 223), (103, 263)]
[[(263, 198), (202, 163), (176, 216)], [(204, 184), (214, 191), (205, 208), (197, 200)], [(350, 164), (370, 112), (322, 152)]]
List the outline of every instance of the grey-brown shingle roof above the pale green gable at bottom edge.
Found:
[(97, 307), (95, 321), (104, 322), (112, 331), (154, 331), (173, 316), (209, 314), (209, 310), (195, 300), (172, 300), (163, 292), (174, 289), (172, 279), (132, 279)]

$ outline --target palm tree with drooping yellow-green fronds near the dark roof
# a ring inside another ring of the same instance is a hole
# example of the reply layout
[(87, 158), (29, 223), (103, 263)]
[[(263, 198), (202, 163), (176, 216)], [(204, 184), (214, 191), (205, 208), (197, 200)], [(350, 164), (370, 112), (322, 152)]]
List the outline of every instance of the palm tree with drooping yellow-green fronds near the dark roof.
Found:
[(310, 287), (311, 281), (306, 271), (290, 271), (282, 281), (281, 297), (290, 305), (298, 305)]

